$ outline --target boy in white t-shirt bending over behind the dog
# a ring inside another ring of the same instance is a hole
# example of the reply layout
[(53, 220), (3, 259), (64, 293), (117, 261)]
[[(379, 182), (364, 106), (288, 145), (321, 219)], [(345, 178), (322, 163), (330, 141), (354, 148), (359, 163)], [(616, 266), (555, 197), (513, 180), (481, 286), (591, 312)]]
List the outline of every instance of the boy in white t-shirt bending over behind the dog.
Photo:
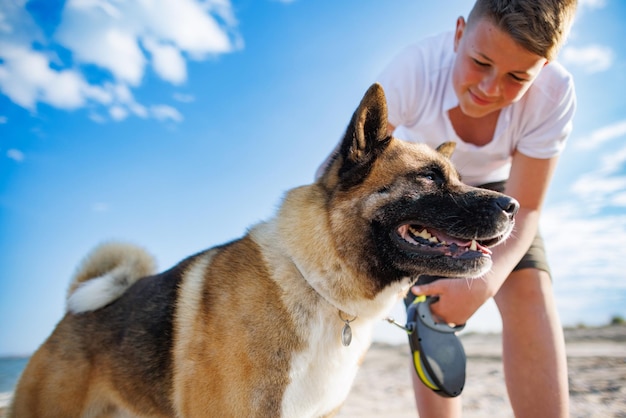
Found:
[[(434, 147), (455, 141), (452, 159), (466, 183), (521, 205), (513, 235), (495, 248), (482, 280), (421, 278), (412, 289), (438, 295), (433, 314), (456, 324), (494, 297), (516, 417), (569, 416), (563, 332), (537, 229), (574, 114), (571, 75), (553, 60), (575, 10), (576, 0), (477, 0), (454, 33), (405, 49), (378, 80), (390, 133)], [(413, 375), (420, 417), (461, 415), (459, 398), (440, 397)]]

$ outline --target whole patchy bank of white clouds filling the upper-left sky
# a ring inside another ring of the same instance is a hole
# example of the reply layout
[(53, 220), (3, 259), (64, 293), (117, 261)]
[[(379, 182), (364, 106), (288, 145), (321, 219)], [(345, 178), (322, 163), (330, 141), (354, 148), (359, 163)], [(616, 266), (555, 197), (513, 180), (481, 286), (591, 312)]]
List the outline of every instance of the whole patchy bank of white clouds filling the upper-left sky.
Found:
[[(37, 103), (68, 110), (95, 103), (106, 108), (90, 112), (98, 121), (103, 114), (113, 120), (135, 115), (181, 121), (173, 108), (149, 111), (132, 98), (130, 88), (141, 85), (147, 68), (166, 82), (182, 84), (186, 59), (241, 46), (229, 0), (69, 0), (54, 39), (45, 39), (24, 3), (9, 2), (0, 11), (0, 90), (33, 111)], [(52, 42), (70, 51), (71, 66), (55, 56)], [(108, 79), (87, 82), (82, 72), (90, 65)]]

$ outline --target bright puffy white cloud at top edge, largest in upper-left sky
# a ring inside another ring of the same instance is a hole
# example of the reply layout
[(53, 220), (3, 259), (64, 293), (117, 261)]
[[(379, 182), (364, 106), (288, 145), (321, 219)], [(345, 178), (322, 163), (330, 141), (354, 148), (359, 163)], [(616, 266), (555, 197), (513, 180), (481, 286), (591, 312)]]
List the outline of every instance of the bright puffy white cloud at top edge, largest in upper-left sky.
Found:
[(215, 0), (70, 0), (56, 38), (81, 62), (109, 70), (133, 86), (145, 72), (144, 46), (156, 73), (180, 84), (186, 80), (183, 53), (203, 59), (233, 50), (230, 27), (221, 27), (211, 14), (227, 14), (229, 8), (228, 2)]

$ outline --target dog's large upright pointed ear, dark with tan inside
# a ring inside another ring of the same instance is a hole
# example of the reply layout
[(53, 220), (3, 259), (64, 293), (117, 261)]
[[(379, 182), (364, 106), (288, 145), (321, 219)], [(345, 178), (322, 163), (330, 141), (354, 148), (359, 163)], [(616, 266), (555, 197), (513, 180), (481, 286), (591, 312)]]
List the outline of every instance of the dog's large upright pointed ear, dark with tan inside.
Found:
[(361, 183), (376, 158), (385, 150), (391, 136), (387, 133), (387, 99), (380, 84), (372, 84), (352, 115), (339, 151), (339, 182), (349, 188)]

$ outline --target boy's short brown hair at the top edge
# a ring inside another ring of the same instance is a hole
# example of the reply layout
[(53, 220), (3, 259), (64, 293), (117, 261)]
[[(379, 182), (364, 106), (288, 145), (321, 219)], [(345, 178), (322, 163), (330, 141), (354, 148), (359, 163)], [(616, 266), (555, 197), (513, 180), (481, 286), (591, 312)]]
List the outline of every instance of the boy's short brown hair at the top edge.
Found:
[(574, 20), (577, 0), (476, 0), (467, 19), (489, 19), (524, 49), (553, 60)]

